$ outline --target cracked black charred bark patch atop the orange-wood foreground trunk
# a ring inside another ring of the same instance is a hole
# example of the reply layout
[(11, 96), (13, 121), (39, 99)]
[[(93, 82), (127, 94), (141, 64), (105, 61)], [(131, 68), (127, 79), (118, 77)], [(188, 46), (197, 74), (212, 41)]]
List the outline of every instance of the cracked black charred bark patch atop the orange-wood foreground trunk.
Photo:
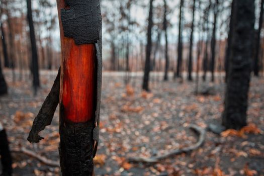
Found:
[(101, 28), (101, 10), (98, 0), (65, 0), (67, 9), (61, 9), (64, 36), (72, 37), (76, 45), (97, 43)]

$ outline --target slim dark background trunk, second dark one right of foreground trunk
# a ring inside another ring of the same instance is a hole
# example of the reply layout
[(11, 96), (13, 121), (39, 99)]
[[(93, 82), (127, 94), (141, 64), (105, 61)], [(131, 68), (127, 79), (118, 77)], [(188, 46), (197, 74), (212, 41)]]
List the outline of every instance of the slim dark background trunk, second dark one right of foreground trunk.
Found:
[(164, 72), (164, 80), (168, 80), (168, 66), (169, 66), (169, 58), (168, 58), (168, 37), (167, 37), (167, 4), (166, 0), (164, 2), (164, 19), (163, 19), (163, 30), (165, 32), (165, 72)]

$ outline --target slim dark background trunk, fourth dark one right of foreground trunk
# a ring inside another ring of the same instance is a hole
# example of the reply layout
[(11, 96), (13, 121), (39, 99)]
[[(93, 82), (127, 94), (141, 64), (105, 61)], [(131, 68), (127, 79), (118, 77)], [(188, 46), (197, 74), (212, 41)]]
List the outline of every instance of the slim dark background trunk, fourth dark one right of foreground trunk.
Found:
[(188, 80), (193, 80), (193, 34), (194, 34), (194, 21), (195, 21), (195, 2), (193, 4), (193, 20), (191, 26), (191, 35), (190, 35), (190, 47), (189, 47), (189, 64), (188, 64)]

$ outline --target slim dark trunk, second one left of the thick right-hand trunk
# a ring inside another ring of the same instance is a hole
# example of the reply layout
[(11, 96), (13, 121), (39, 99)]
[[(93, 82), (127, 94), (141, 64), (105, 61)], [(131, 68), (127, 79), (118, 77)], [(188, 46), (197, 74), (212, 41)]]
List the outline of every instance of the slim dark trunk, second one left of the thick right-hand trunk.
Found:
[(215, 45), (216, 45), (216, 25), (217, 25), (217, 15), (218, 15), (218, 0), (215, 0), (214, 4), (214, 24), (211, 40), (211, 81), (215, 80)]

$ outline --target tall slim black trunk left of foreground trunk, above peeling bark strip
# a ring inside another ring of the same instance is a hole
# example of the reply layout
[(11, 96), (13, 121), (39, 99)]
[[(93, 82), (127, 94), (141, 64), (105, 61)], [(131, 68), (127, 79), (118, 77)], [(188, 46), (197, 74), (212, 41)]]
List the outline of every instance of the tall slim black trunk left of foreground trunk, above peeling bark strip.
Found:
[(29, 22), (29, 32), (30, 32), (30, 42), (31, 42), (31, 52), (32, 52), (32, 73), (33, 73), (33, 87), (36, 94), (37, 88), (40, 86), (39, 82), (39, 64), (38, 64), (38, 53), (35, 38), (35, 30), (32, 18), (32, 8), (31, 0), (27, 0), (28, 8), (28, 22)]

